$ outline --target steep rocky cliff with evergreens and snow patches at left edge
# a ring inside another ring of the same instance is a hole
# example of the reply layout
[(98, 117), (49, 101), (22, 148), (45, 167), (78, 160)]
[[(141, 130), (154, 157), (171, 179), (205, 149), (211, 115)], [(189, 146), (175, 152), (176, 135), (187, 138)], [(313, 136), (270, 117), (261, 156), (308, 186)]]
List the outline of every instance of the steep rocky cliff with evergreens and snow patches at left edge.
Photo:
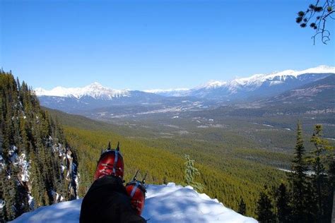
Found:
[(0, 221), (77, 198), (76, 151), (35, 93), (0, 71)]

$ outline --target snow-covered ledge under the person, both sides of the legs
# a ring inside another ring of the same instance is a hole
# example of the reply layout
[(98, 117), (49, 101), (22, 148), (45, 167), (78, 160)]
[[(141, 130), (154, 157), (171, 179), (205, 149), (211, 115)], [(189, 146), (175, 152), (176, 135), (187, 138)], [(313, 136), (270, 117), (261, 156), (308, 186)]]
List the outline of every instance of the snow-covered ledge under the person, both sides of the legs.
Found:
[[(252, 217), (245, 217), (225, 207), (216, 199), (204, 193), (197, 193), (191, 186), (148, 185), (142, 217), (148, 222), (235, 222), (254, 223)], [(17, 219), (20, 222), (78, 222), (81, 199), (40, 207)]]

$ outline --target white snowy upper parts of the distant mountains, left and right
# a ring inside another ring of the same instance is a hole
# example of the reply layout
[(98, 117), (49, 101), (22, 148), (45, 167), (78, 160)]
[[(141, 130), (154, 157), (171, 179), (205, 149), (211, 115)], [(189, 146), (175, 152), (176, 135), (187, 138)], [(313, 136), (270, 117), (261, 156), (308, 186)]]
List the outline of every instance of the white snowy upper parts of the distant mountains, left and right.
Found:
[[(268, 82), (268, 85), (271, 87), (273, 85), (280, 85), (285, 83), (288, 78), (298, 78), (302, 74), (322, 74), (322, 73), (335, 73), (335, 67), (333, 66), (317, 66), (315, 68), (308, 68), (302, 71), (293, 71), (286, 70), (280, 72), (274, 72), (269, 74), (254, 74), (248, 78), (236, 78), (229, 81), (221, 80), (210, 80), (204, 85), (199, 85), (195, 88), (176, 88), (176, 89), (152, 89), (152, 90), (143, 90), (143, 92), (153, 93), (163, 96), (203, 96), (207, 95), (208, 92), (199, 92), (199, 91), (208, 91), (216, 90), (218, 88), (225, 88), (230, 94), (234, 94), (237, 90), (245, 90), (247, 92), (256, 90), (264, 83)], [(94, 99), (102, 100), (112, 100), (113, 98), (119, 97), (131, 97), (130, 90), (114, 90), (111, 88), (106, 88), (100, 83), (94, 82), (90, 85), (87, 85), (83, 88), (63, 88), (56, 87), (52, 90), (45, 90), (43, 88), (36, 88), (35, 93), (37, 96), (57, 96), (57, 97), (74, 97), (76, 99), (81, 99), (81, 97), (90, 96)]]

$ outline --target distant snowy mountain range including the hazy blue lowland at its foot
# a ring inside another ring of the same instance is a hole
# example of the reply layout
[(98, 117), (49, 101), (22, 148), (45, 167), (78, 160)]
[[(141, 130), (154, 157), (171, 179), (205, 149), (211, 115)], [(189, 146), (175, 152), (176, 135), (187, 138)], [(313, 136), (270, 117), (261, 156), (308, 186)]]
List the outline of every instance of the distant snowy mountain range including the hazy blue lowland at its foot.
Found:
[[(252, 102), (280, 95), (335, 74), (335, 67), (317, 66), (303, 71), (255, 74), (230, 81), (211, 80), (192, 89), (114, 90), (100, 83), (83, 88), (36, 88), (40, 103), (52, 109), (96, 118), (97, 114), (115, 116), (151, 111), (194, 110), (217, 107), (232, 102)], [(105, 111), (108, 111), (105, 113)]]

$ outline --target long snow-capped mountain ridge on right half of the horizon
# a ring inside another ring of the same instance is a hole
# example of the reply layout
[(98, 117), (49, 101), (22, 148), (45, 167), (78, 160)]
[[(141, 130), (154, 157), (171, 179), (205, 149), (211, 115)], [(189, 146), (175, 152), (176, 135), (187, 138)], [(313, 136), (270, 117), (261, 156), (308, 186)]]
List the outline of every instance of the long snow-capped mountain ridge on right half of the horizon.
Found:
[(164, 96), (194, 96), (211, 100), (234, 100), (248, 97), (271, 96), (298, 88), (335, 73), (335, 67), (317, 66), (303, 71), (286, 70), (269, 74), (254, 74), (248, 78), (229, 81), (210, 80), (192, 89), (147, 90)]

